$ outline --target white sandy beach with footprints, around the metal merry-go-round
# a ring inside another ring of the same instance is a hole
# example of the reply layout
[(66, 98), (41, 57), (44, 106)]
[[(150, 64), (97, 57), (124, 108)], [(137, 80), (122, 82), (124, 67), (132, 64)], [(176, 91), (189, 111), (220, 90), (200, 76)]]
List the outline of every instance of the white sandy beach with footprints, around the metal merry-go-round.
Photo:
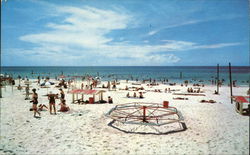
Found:
[[(50, 115), (42, 111), (40, 119), (29, 111), (32, 104), (24, 100), (25, 90), (2, 88), (0, 154), (249, 154), (249, 117), (235, 111), (228, 86), (220, 87), (220, 95), (213, 94), (216, 86), (205, 86), (201, 90), (206, 96), (179, 96), (164, 90), (180, 89), (176, 92), (185, 93), (193, 86), (160, 84), (150, 88), (142, 84), (146, 90), (163, 92), (145, 91), (144, 99), (133, 99), (126, 98), (128, 91), (119, 90), (126, 85), (140, 87), (121, 81), (116, 91), (104, 93), (104, 99), (111, 96), (113, 104), (71, 104), (72, 95), (65, 89), (70, 112)], [(32, 87), (38, 89), (36, 83)], [(248, 87), (233, 88), (234, 95), (246, 96), (247, 90)], [(59, 91), (54, 86), (48, 90), (39, 88), (39, 103), (48, 106), (48, 99), (42, 96), (47, 91)], [(173, 97), (188, 100), (173, 100)], [(216, 103), (200, 103), (202, 99)], [(166, 135), (128, 134), (107, 125), (112, 120), (105, 114), (115, 105), (163, 101), (181, 111), (187, 130)], [(57, 109), (58, 104), (59, 100)]]

